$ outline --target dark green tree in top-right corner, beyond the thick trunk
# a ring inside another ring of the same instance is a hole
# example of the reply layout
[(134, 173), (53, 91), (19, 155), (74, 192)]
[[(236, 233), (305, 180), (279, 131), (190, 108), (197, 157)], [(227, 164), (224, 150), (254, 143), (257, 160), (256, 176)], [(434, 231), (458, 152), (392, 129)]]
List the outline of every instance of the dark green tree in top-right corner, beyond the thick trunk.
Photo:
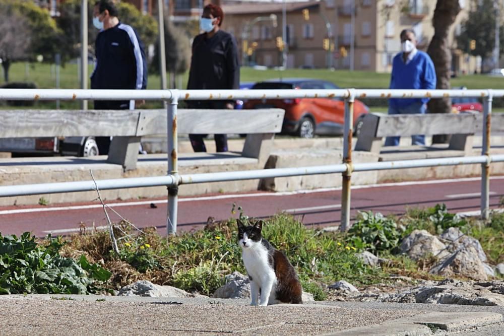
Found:
[[(493, 0), (473, 0), (467, 20), (462, 23), (462, 32), (457, 38), (459, 48), (473, 56), (481, 56), (482, 63), (490, 57), (495, 46), (495, 9)], [(504, 45), (504, 28), (500, 27), (500, 52)], [(475, 48), (471, 48), (471, 41)]]

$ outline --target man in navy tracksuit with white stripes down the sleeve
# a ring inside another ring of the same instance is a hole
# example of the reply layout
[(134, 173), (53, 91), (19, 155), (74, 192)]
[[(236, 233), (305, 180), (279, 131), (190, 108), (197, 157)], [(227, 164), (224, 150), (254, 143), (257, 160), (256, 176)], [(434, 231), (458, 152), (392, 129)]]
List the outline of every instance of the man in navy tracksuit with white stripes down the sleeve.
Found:
[[(117, 18), (112, 0), (97, 1), (93, 9), (96, 36), (96, 63), (91, 89), (145, 89), (147, 62), (142, 41), (131, 26)], [(142, 101), (137, 101), (137, 105)], [(134, 100), (94, 101), (97, 110), (135, 109)], [(99, 154), (108, 154), (110, 137), (96, 137)]]

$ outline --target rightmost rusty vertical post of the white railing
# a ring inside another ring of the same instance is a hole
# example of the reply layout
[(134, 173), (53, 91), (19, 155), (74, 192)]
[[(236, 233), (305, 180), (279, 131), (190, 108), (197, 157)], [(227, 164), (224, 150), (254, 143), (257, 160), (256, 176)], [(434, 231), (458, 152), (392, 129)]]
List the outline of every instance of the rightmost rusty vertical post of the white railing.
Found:
[(486, 162), (481, 164), (481, 218), (488, 219), (490, 215), (490, 126), (492, 116), (492, 90), (483, 102), (483, 142), (481, 155), (486, 156)]

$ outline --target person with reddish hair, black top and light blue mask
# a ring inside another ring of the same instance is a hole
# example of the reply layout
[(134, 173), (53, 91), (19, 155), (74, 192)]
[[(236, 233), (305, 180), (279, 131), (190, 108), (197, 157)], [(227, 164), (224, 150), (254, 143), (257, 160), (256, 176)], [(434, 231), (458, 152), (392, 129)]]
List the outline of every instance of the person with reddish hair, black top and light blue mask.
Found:
[[(240, 65), (235, 38), (220, 29), (224, 13), (213, 4), (205, 6), (201, 17), (202, 34), (193, 41), (193, 56), (187, 89), (239, 89)], [(233, 109), (234, 102), (226, 100), (189, 101), (190, 108)], [(206, 152), (201, 134), (190, 134), (195, 152)], [(214, 135), (217, 152), (227, 152), (227, 136)]]

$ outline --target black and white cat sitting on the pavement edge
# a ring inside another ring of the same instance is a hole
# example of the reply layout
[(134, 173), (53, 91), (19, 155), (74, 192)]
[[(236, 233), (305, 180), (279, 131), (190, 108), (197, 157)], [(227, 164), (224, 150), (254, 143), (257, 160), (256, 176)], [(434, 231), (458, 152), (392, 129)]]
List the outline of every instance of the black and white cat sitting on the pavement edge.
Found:
[(245, 226), (238, 224), (238, 243), (250, 279), (251, 306), (275, 303), (303, 303), (302, 288), (296, 271), (285, 254), (261, 235), (263, 222)]

